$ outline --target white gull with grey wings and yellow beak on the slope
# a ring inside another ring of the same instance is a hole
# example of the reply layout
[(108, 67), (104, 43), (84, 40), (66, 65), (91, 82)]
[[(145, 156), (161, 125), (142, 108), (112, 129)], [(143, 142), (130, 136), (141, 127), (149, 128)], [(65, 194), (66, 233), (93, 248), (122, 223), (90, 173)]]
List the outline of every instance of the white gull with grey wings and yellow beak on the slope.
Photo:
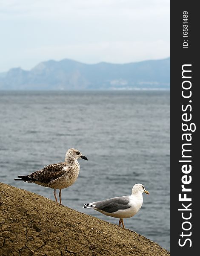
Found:
[(131, 195), (83, 204), (83, 208), (91, 208), (107, 216), (119, 218), (119, 226), (122, 224), (125, 228), (123, 218), (130, 218), (140, 210), (143, 204), (143, 192), (149, 195), (144, 185), (137, 183), (133, 186)]

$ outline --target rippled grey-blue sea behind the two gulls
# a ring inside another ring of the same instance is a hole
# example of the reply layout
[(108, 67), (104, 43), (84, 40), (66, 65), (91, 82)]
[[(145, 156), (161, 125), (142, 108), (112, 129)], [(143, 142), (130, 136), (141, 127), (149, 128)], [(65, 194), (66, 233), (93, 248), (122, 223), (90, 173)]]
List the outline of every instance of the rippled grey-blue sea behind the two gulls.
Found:
[[(0, 181), (54, 200), (53, 189), (14, 181), (77, 148), (80, 175), (62, 190), (64, 205), (113, 224), (83, 204), (130, 195), (143, 183), (143, 206), (126, 228), (170, 250), (170, 92), (0, 91)], [(58, 191), (57, 191), (58, 192)]]

